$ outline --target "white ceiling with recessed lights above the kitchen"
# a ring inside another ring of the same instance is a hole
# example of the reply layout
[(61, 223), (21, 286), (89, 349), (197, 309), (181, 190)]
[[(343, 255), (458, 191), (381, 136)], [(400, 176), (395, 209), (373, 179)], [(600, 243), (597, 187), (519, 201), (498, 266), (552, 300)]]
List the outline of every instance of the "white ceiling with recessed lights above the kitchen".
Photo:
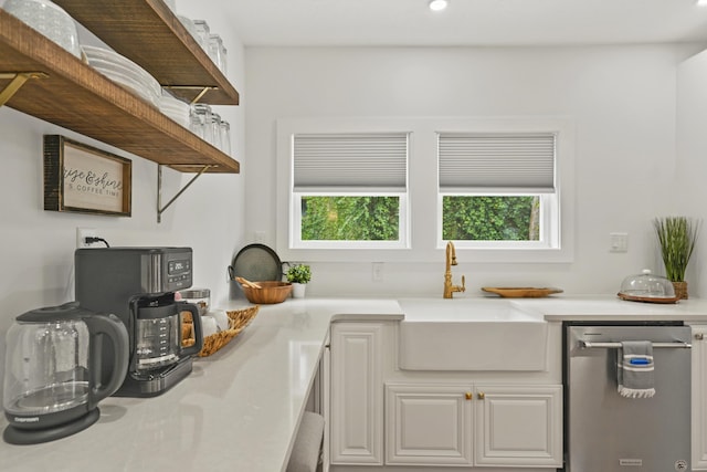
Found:
[(707, 42), (695, 0), (217, 0), (244, 45)]

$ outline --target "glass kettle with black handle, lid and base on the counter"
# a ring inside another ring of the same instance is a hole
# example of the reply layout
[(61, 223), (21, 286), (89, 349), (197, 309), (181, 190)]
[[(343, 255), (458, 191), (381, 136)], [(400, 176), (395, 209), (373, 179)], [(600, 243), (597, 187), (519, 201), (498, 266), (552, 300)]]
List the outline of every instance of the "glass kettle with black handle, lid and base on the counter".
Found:
[[(102, 373), (102, 346), (113, 354), (109, 373)], [(127, 329), (114, 315), (67, 303), (18, 316), (7, 334), (3, 407), (10, 426), (4, 440), (44, 442), (87, 428), (99, 417), (98, 401), (120, 387), (127, 367)]]

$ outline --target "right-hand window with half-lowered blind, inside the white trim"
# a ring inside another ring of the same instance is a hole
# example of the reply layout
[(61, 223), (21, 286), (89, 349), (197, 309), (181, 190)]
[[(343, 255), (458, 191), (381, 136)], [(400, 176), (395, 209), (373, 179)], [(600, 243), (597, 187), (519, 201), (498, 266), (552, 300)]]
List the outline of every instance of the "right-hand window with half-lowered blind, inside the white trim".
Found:
[(439, 241), (557, 248), (555, 133), (440, 133), (437, 159)]

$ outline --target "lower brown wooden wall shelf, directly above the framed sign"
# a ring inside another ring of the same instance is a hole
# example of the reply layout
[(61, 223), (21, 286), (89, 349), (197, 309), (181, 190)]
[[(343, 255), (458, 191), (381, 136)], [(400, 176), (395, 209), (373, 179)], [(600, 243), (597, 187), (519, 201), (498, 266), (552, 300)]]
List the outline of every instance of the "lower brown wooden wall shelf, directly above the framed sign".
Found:
[[(180, 171), (240, 170), (236, 160), (0, 9), (0, 75), (22, 72), (45, 77), (30, 78), (10, 97), (14, 109)], [(0, 91), (9, 83), (0, 76)]]

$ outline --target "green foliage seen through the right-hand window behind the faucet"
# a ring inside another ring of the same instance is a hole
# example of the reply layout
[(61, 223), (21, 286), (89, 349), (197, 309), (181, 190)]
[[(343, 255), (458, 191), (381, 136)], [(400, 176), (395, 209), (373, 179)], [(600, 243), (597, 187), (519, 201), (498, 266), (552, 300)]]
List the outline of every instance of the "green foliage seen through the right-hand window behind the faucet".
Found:
[(453, 241), (537, 241), (538, 197), (442, 198), (442, 239)]

